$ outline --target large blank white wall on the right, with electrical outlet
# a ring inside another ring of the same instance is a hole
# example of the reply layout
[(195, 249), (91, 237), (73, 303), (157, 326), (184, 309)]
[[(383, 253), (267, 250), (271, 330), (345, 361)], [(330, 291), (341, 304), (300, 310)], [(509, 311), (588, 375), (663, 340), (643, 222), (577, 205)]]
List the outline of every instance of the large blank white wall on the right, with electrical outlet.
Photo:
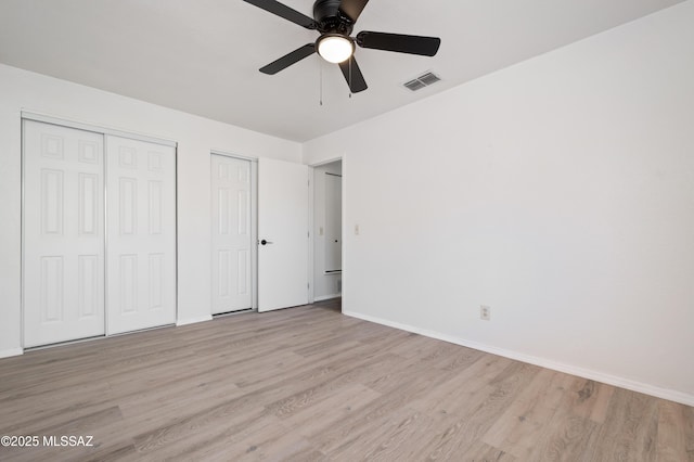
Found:
[(344, 161), (344, 311), (694, 405), (692, 24), (687, 1), (306, 143)]

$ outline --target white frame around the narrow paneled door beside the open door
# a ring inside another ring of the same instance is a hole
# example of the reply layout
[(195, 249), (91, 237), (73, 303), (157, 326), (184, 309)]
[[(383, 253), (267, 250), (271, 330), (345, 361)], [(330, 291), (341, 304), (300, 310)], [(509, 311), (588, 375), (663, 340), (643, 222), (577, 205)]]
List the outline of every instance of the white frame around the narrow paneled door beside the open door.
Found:
[[(222, 157), (234, 158), (237, 161), (247, 161), (250, 163), (250, 309), (253, 311), (258, 311), (258, 158), (244, 156), (240, 154), (229, 153), (219, 150), (210, 150), (209, 159), (210, 159), (210, 196), (209, 203), (211, 204), (211, 156), (219, 155)], [(211, 210), (210, 210), (211, 211)], [(209, 239), (211, 243), (213, 238), (213, 227), (211, 227), (211, 213), (210, 213), (210, 227), (209, 227)], [(213, 271), (213, 260), (211, 260), (211, 246), (210, 246), (210, 260), (209, 260), (209, 270), (210, 274)], [(209, 280), (209, 293), (213, 291), (213, 282), (211, 278)], [(210, 316), (228, 316), (233, 315), (230, 313), (221, 313), (221, 315), (211, 315), (211, 303), (210, 303)], [(247, 312), (247, 310), (240, 310), (237, 312)]]

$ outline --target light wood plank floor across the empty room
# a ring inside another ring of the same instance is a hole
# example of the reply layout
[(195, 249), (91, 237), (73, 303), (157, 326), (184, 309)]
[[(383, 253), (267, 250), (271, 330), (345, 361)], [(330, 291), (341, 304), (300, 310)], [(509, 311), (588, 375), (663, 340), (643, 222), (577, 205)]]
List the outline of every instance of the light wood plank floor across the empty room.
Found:
[(694, 461), (694, 409), (344, 317), (338, 301), (0, 360), (0, 460)]

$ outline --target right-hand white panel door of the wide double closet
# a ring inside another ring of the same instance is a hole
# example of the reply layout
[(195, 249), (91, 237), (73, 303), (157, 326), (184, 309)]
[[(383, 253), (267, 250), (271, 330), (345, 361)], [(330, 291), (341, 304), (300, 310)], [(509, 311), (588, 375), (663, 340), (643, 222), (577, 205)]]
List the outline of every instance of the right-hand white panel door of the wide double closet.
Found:
[(107, 333), (176, 321), (176, 151), (106, 136)]

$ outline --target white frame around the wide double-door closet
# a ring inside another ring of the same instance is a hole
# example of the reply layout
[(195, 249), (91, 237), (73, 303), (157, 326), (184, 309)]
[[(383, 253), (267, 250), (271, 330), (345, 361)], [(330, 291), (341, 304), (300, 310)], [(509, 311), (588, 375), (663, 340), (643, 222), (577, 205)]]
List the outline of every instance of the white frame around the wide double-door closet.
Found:
[[(21, 248), (20, 248), (20, 310), (21, 310), (21, 317), (20, 317), (20, 329), (21, 329), (21, 333), (20, 333), (20, 341), (21, 341), (21, 345), (22, 345), (22, 350), (26, 350), (26, 349), (39, 349), (39, 348), (46, 348), (49, 347), (51, 345), (41, 345), (41, 346), (36, 346), (36, 347), (30, 347), (30, 348), (26, 348), (25, 347), (25, 338), (24, 338), (24, 330), (26, 328), (26, 323), (25, 323), (25, 294), (24, 294), (24, 290), (25, 290), (25, 282), (26, 282), (26, 278), (25, 278), (25, 265), (24, 265), (24, 257), (25, 257), (25, 244), (26, 244), (26, 239), (24, 236), (24, 232), (26, 230), (26, 224), (25, 224), (25, 184), (26, 184), (26, 179), (25, 179), (25, 175), (26, 175), (26, 168), (25, 168), (25, 141), (24, 141), (24, 121), (25, 120), (34, 120), (34, 121), (39, 121), (39, 123), (43, 123), (43, 124), (50, 124), (50, 125), (56, 125), (60, 127), (66, 127), (66, 128), (72, 128), (72, 129), (77, 129), (77, 130), (83, 130), (83, 131), (91, 131), (94, 133), (99, 133), (104, 138), (104, 197), (103, 197), (103, 202), (104, 202), (104, 310), (108, 309), (107, 306), (107, 301), (108, 301), (108, 288), (106, 287), (106, 281), (107, 281), (107, 268), (106, 268), (106, 252), (108, 249), (108, 236), (105, 235), (105, 231), (106, 231), (106, 223), (108, 222), (108, 214), (106, 210), (106, 200), (108, 197), (108, 190), (106, 188), (106, 163), (105, 163), (105, 156), (106, 156), (106, 151), (105, 151), (105, 141), (106, 141), (106, 134), (113, 134), (116, 137), (121, 137), (121, 138), (128, 138), (131, 140), (137, 140), (137, 141), (144, 141), (144, 142), (149, 142), (149, 143), (155, 143), (155, 144), (162, 144), (165, 146), (169, 146), (169, 147), (174, 147), (174, 187), (175, 187), (175, 198), (174, 198), (174, 216), (175, 216), (175, 222), (176, 222), (176, 244), (175, 244), (175, 274), (176, 274), (176, 294), (175, 294), (175, 312), (176, 312), (176, 320), (178, 321), (178, 306), (179, 306), (179, 290), (178, 290), (178, 256), (179, 256), (179, 243), (178, 243), (178, 142), (171, 139), (166, 139), (166, 138), (158, 138), (158, 137), (151, 137), (147, 134), (142, 134), (142, 133), (136, 133), (136, 132), (130, 132), (130, 131), (124, 131), (124, 130), (118, 130), (115, 128), (111, 128), (111, 127), (105, 127), (105, 126), (100, 126), (100, 125), (94, 125), (94, 124), (90, 124), (90, 123), (85, 123), (85, 121), (79, 121), (79, 120), (74, 120), (74, 119), (69, 119), (69, 118), (63, 118), (60, 116), (54, 116), (54, 115), (49, 115), (49, 114), (43, 114), (43, 113), (39, 113), (39, 112), (33, 112), (33, 111), (21, 111), (20, 112), (20, 130), (21, 130), (21, 205), (20, 205), (20, 227), (21, 227), (21, 231), (20, 231), (20, 240), (21, 240)], [(154, 328), (156, 329), (156, 328)], [(104, 335), (99, 335), (97, 337), (93, 338), (100, 338), (100, 337), (107, 337), (108, 335), (108, 319), (106, 316), (106, 312), (104, 312)], [(119, 335), (119, 334), (116, 334)], [(63, 342), (63, 343), (73, 343), (73, 342), (83, 342), (86, 338), (78, 338), (78, 339), (74, 339), (74, 341), (67, 341), (67, 342)], [(87, 338), (88, 339), (88, 338)], [(63, 344), (62, 343), (62, 344)]]

